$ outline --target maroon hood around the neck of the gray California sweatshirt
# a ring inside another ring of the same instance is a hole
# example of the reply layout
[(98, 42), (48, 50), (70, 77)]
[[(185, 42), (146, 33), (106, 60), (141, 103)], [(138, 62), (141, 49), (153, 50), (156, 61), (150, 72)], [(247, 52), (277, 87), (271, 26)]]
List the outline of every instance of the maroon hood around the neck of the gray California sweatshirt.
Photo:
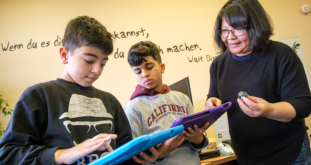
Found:
[(155, 90), (148, 89), (148, 88), (145, 88), (145, 87), (137, 84), (137, 86), (135, 88), (135, 92), (130, 97), (130, 100), (133, 100), (133, 98), (135, 98), (139, 95), (156, 96), (157, 94), (165, 94), (165, 93), (168, 93), (170, 91), (171, 91), (171, 89), (166, 84), (163, 84), (163, 88), (162, 88), (161, 92), (157, 92)]

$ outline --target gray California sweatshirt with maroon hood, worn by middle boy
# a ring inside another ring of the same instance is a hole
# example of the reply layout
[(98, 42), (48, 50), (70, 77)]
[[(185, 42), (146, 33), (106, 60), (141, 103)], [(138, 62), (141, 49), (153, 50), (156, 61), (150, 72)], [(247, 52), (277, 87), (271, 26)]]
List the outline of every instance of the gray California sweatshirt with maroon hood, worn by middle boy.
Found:
[[(130, 102), (124, 106), (124, 111), (130, 122), (133, 138), (169, 129), (177, 118), (194, 113), (189, 97), (181, 92), (171, 91), (166, 84), (163, 84), (161, 92), (137, 85)], [(185, 140), (156, 164), (200, 164), (198, 150), (208, 145), (207, 137), (203, 136), (202, 146)]]

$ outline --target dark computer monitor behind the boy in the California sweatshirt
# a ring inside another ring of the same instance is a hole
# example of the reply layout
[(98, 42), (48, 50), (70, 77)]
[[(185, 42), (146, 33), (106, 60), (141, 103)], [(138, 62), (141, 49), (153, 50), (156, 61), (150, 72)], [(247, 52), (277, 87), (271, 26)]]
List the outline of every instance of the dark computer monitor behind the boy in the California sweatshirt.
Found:
[(178, 91), (178, 92), (181, 92), (181, 93), (187, 95), (191, 101), (191, 104), (193, 105), (188, 77), (186, 77), (186, 78), (184, 78), (178, 82), (175, 82), (172, 85), (169, 85), (169, 88), (171, 88), (172, 91)]

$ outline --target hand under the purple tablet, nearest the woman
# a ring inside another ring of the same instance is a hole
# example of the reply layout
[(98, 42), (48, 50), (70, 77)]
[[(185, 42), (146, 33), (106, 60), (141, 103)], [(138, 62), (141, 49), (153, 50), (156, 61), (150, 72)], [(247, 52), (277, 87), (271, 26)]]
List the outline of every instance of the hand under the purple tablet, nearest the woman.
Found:
[(209, 125), (209, 122), (206, 122), (201, 128), (197, 128), (197, 125), (193, 125), (192, 129), (191, 127), (188, 127), (188, 131), (183, 130), (183, 133), (186, 135), (185, 139), (191, 141), (192, 143), (196, 145), (200, 145), (203, 142), (203, 133), (206, 131), (207, 126)]

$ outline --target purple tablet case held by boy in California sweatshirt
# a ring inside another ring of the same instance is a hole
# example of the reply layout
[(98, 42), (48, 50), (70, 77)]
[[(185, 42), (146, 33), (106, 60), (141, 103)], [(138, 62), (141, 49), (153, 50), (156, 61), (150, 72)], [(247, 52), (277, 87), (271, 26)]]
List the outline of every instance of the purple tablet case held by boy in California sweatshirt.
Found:
[(178, 119), (174, 121), (173, 125), (170, 128), (176, 127), (178, 125), (183, 125), (184, 130), (188, 131), (188, 127), (191, 127), (193, 129), (193, 125), (197, 125), (198, 128), (201, 128), (206, 122), (210, 123), (208, 125), (208, 127), (210, 127), (231, 106), (232, 106), (232, 103), (229, 101), (220, 106), (212, 107), (207, 110), (197, 112), (191, 115), (179, 117)]

